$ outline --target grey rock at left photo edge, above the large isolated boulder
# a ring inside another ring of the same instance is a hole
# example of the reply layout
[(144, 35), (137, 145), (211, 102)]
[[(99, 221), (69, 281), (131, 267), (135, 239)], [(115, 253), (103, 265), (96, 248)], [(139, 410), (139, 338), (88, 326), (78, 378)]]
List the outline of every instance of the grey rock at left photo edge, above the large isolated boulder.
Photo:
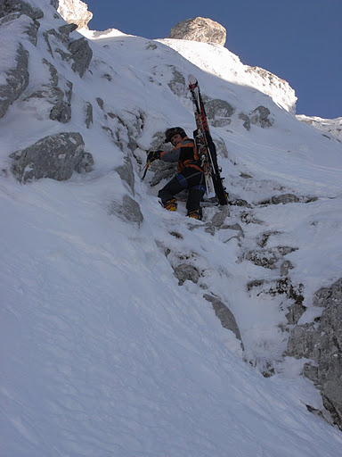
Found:
[(22, 45), (18, 48), (16, 61), (17, 66), (7, 73), (7, 85), (0, 86), (0, 118), (28, 87), (28, 51)]

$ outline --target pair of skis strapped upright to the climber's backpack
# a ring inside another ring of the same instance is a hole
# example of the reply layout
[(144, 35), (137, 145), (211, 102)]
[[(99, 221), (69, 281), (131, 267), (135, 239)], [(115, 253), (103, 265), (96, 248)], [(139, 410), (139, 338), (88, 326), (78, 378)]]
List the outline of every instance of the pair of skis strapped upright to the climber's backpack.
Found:
[(210, 135), (207, 114), (202, 96), (200, 95), (199, 83), (192, 75), (189, 75), (188, 79), (197, 127), (193, 132), (193, 136), (199, 157), (202, 161), (207, 187), (206, 194), (208, 198), (216, 196), (219, 204), (228, 204), (227, 193), (222, 183), (223, 178), (220, 175), (221, 169), (217, 164), (216, 146)]

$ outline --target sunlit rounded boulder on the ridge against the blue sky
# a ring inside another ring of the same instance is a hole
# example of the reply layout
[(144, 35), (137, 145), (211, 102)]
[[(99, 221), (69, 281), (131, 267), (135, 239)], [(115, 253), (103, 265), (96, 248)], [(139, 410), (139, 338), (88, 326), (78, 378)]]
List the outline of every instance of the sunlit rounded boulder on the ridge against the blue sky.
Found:
[(224, 46), (226, 30), (216, 21), (197, 17), (179, 22), (170, 30), (168, 37), (199, 41), (201, 43), (218, 43)]

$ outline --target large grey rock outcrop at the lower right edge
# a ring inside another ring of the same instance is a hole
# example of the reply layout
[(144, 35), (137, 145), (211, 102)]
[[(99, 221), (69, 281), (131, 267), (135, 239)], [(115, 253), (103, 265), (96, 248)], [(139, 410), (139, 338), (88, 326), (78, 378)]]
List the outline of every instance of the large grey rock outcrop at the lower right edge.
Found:
[(342, 430), (342, 278), (314, 295), (323, 309), (317, 322), (292, 329), (287, 354), (312, 359), (304, 374), (321, 389), (323, 404)]

